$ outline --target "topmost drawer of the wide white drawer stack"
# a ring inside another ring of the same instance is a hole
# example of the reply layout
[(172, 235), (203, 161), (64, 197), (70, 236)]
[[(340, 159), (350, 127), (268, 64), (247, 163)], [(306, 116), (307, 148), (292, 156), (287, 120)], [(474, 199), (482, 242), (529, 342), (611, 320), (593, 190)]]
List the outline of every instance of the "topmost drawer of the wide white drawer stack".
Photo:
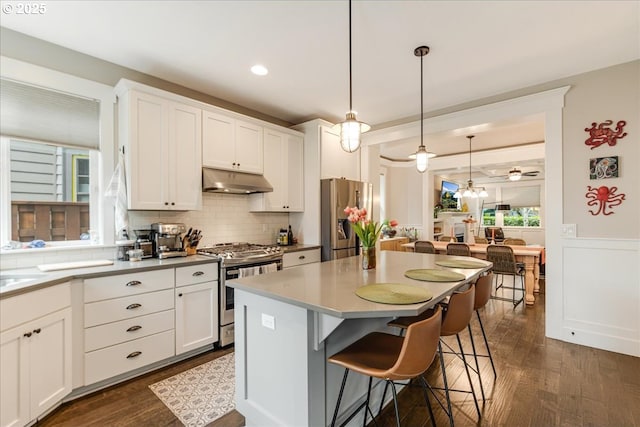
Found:
[(171, 268), (86, 279), (84, 281), (84, 302), (173, 288), (175, 283), (173, 275)]

